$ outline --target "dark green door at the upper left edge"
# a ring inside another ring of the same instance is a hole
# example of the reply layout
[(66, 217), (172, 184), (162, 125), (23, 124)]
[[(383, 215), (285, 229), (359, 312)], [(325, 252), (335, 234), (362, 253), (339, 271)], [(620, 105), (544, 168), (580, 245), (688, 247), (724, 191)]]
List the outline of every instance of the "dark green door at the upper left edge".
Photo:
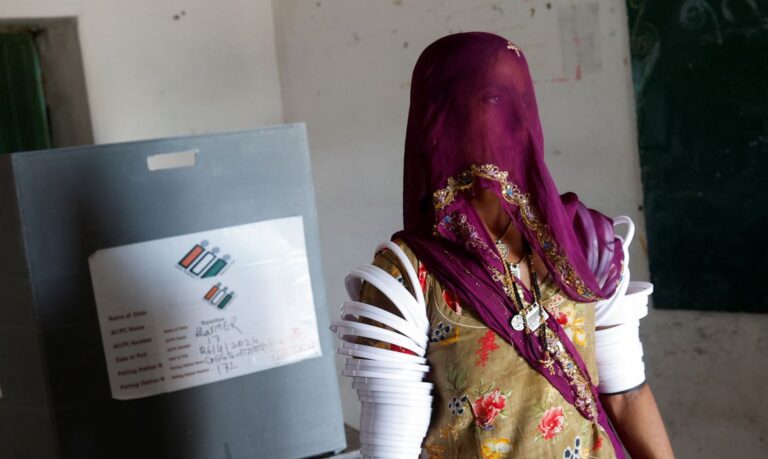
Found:
[(0, 154), (51, 147), (31, 33), (0, 33)]

